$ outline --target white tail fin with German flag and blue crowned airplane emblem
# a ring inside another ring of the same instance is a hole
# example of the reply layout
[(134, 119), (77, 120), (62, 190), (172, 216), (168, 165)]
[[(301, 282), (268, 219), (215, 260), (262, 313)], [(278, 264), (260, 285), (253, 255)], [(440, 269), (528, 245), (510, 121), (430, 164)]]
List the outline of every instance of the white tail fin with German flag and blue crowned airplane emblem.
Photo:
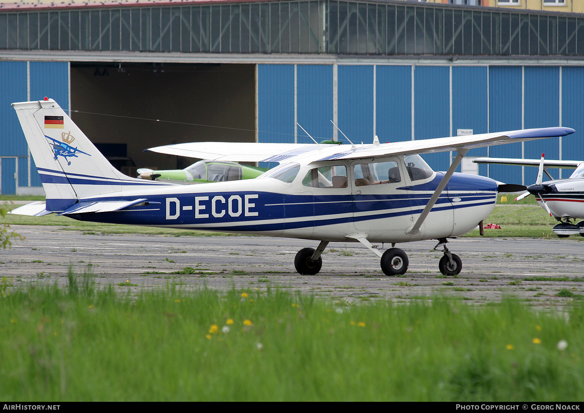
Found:
[(12, 106), (40, 173), (47, 211), (64, 211), (78, 199), (143, 182), (117, 171), (53, 99)]

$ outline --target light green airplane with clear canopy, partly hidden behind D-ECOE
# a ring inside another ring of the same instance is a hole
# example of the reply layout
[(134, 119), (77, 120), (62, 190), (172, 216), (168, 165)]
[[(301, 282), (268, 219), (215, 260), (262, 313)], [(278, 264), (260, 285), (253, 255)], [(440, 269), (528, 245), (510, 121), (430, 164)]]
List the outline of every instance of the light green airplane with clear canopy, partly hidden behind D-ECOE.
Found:
[(139, 168), (138, 178), (151, 181), (164, 181), (188, 185), (192, 183), (239, 181), (240, 179), (257, 178), (268, 168), (241, 165), (237, 162), (199, 161), (185, 169), (168, 169), (157, 171), (149, 168)]

